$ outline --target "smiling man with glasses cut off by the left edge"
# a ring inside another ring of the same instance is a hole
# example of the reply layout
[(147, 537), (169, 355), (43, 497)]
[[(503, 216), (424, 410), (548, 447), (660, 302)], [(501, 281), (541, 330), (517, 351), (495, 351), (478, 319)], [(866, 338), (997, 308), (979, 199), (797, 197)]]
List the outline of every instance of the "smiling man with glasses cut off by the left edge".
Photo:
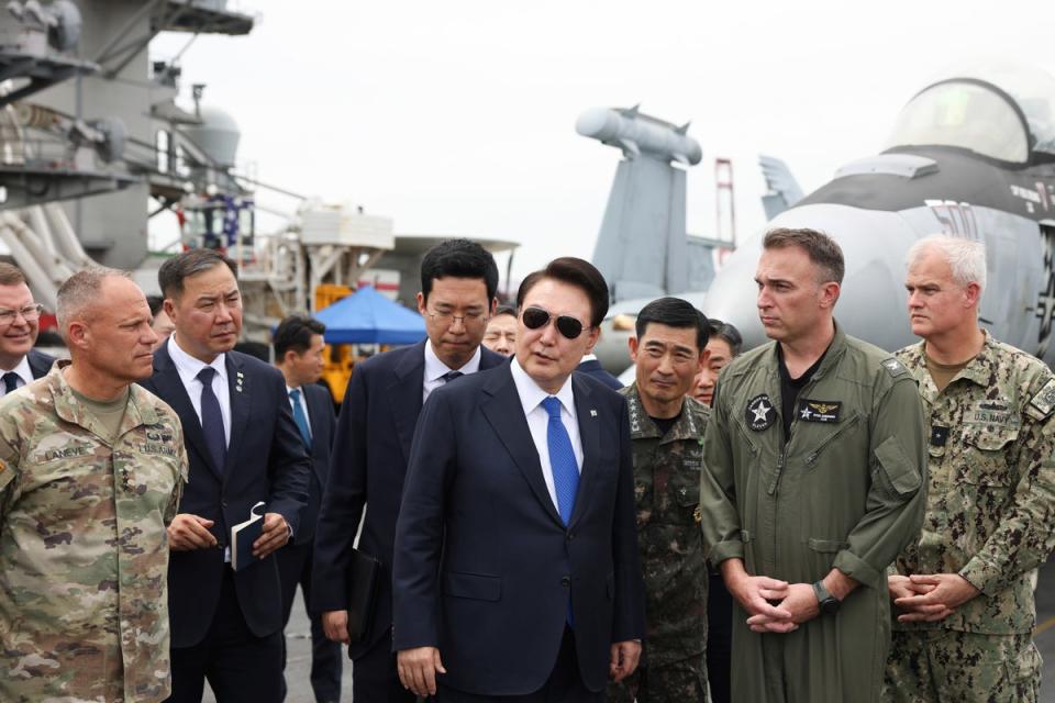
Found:
[(0, 398), (46, 376), (55, 362), (33, 348), (41, 331), (41, 309), (22, 271), (0, 261)]

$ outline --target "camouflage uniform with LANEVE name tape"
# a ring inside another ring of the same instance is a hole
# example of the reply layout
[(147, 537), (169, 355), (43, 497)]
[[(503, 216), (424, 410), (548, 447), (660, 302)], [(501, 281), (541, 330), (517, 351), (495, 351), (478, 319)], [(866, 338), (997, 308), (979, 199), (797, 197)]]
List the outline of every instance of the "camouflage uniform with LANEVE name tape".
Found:
[(132, 386), (106, 434), (59, 365), (0, 401), (4, 703), (169, 693), (165, 527), (187, 478), (182, 431)]

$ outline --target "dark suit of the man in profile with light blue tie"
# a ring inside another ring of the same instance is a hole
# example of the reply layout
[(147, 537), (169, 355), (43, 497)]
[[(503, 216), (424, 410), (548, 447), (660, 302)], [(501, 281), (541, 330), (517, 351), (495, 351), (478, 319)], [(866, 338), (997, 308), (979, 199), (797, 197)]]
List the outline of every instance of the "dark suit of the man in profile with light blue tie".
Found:
[[(308, 504), (300, 513), (300, 529), (293, 542), (275, 553), (278, 559), (278, 577), (282, 584), (282, 623), (289, 624), (297, 584), (304, 594), (304, 603), (311, 603), (312, 592), (312, 544), (315, 538), (315, 524), (319, 522), (319, 509), (322, 505), (322, 492), (330, 473), (330, 448), (333, 445), (333, 431), (336, 417), (333, 414), (333, 397), (322, 386), (311, 383), (300, 388), (308, 405), (308, 424), (311, 427), (311, 481), (308, 489)], [(338, 701), (341, 699), (341, 645), (326, 639), (322, 628), (322, 616), (309, 612), (311, 621), (311, 688), (316, 701)], [(285, 669), (285, 666), (282, 667)]]

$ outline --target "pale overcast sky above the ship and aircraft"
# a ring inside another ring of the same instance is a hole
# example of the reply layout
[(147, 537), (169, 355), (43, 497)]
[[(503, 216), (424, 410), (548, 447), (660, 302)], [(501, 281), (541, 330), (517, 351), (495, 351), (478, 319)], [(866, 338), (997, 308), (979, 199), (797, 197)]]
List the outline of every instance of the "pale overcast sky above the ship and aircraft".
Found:
[[(240, 0), (245, 37), (202, 36), (182, 86), (242, 130), (269, 183), (393, 217), (400, 234), (518, 241), (514, 275), (589, 258), (618, 150), (579, 136), (595, 105), (675, 123), (689, 231), (714, 234), (713, 163), (734, 163), (741, 236), (764, 223), (759, 153), (803, 189), (884, 147), (904, 102), (965, 59), (1052, 71), (1050, 2)], [(186, 35), (163, 35), (152, 58)], [(296, 202), (260, 192), (286, 210)]]

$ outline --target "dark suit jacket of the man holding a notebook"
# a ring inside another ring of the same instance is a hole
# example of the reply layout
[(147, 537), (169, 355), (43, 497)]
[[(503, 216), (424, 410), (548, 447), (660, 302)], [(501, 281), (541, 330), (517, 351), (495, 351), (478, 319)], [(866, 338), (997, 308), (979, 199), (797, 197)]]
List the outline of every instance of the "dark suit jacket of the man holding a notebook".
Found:
[[(226, 353), (231, 392), (227, 460), (214, 466), (201, 422), (168, 354), (168, 342), (154, 354), (154, 375), (143, 387), (171, 405), (184, 426), (190, 476), (180, 513), (214, 522), (220, 546), (173, 551), (168, 565), (168, 615), (171, 646), (191, 647), (209, 632), (220, 599), (223, 547), (231, 526), (245, 521), (257, 501), (299, 529), (311, 471), (304, 443), (293, 423), (286, 380), (275, 367), (237, 352)], [(282, 627), (282, 605), (275, 555), (234, 574), (238, 604), (249, 631), (264, 637)]]

